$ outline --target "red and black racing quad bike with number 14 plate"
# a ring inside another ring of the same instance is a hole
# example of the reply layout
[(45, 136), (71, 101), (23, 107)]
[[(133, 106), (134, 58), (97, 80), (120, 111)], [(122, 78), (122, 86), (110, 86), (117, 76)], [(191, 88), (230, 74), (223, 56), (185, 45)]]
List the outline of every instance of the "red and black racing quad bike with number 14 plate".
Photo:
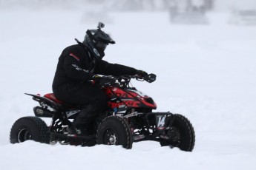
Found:
[[(94, 134), (72, 135), (68, 132), (71, 120), (81, 110), (79, 106), (58, 101), (53, 93), (44, 96), (26, 94), (32, 96), (40, 106), (33, 108), (36, 117), (16, 120), (10, 130), (10, 143), (36, 140), (41, 143), (82, 146), (122, 145), (131, 149), (133, 142), (155, 140), (161, 146), (178, 147), (188, 152), (193, 150), (195, 135), (189, 120), (171, 112), (152, 112), (157, 109), (153, 99), (129, 85), (131, 78), (151, 83), (156, 80), (156, 75), (108, 78), (113, 81), (101, 87), (108, 95), (108, 110), (96, 121)], [(50, 126), (39, 117), (52, 118)]]

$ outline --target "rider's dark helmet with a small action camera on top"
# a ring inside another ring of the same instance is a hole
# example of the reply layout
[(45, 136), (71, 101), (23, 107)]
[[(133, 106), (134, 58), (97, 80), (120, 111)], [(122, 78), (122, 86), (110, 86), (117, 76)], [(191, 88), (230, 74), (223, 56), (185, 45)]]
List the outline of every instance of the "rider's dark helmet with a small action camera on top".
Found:
[(101, 30), (104, 26), (102, 22), (99, 22), (97, 30), (87, 30), (85, 40), (83, 41), (85, 47), (88, 47), (88, 50), (90, 50), (97, 59), (104, 57), (104, 50), (108, 44), (115, 44), (115, 41)]

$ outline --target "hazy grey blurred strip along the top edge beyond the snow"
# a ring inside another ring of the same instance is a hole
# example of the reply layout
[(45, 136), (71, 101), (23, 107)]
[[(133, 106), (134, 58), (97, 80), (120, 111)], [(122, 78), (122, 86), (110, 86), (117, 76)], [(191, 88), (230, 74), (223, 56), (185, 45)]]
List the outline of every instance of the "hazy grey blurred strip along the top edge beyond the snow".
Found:
[[(176, 1), (176, 2), (175, 2)], [(204, 5), (206, 10), (229, 11), (234, 9), (255, 9), (255, 0), (0, 0), (1, 9), (15, 7), (63, 7), (86, 8), (95, 4), (96, 9), (102, 10), (168, 10), (171, 4), (178, 3), (181, 6), (191, 7)]]

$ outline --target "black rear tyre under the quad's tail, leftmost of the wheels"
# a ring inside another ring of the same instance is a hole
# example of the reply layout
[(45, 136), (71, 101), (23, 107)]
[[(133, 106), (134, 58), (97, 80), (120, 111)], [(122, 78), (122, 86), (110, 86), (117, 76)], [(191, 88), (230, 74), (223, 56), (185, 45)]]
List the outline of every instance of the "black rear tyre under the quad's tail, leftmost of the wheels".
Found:
[(16, 120), (10, 129), (10, 143), (22, 143), (26, 140), (50, 143), (48, 127), (42, 119), (29, 116)]

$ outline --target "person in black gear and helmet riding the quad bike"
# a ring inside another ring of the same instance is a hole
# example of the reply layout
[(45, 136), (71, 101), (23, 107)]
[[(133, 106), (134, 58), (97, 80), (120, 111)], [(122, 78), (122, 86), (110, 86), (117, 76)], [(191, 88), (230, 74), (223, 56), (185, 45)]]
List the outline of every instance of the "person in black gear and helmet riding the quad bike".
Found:
[(147, 75), (142, 70), (102, 60), (108, 44), (115, 44), (101, 30), (102, 27), (104, 24), (99, 22), (97, 30), (87, 30), (82, 43), (76, 40), (78, 44), (65, 48), (59, 57), (53, 80), (53, 93), (59, 101), (82, 107), (73, 120), (70, 133), (93, 133), (89, 130), (92, 123), (107, 107), (107, 96), (100, 86), (93, 85), (91, 81), (106, 82), (109, 79), (97, 75), (138, 75), (142, 78)]

